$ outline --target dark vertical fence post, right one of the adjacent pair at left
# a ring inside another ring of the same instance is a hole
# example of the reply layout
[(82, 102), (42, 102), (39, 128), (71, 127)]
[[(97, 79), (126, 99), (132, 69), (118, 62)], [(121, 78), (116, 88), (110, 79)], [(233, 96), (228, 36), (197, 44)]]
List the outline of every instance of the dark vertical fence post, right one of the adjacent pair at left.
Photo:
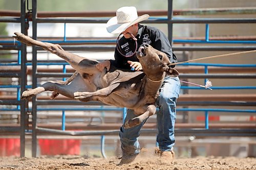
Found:
[[(36, 12), (36, 0), (32, 1), (32, 27), (33, 27), (33, 39), (37, 39), (37, 12)], [(37, 87), (37, 51), (36, 47), (32, 46), (32, 88)], [(36, 133), (36, 117), (37, 117), (37, 105), (36, 96), (32, 98), (32, 157), (36, 157), (37, 151), (37, 133)]]

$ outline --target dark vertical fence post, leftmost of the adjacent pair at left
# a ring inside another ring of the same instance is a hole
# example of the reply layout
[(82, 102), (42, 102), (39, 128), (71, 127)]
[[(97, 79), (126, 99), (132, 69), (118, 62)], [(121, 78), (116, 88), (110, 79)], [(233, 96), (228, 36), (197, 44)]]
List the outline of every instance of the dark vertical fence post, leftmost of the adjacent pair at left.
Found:
[[(26, 0), (20, 0), (20, 27), (21, 32), (25, 34), (25, 19), (26, 19)], [(20, 92), (25, 91), (26, 88), (26, 47), (27, 45), (22, 43), (21, 45), (21, 57), (20, 57)], [(20, 157), (25, 157), (25, 101), (20, 101)]]

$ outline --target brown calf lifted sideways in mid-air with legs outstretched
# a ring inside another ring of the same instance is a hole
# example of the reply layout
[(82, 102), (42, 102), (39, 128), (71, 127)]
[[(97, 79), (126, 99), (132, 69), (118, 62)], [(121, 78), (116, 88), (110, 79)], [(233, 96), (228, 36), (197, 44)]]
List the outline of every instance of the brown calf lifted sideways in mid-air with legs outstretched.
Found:
[[(111, 66), (100, 72), (96, 68), (98, 61), (64, 51), (60, 45), (33, 40), (22, 33), (14, 33), (18, 41), (44, 48), (66, 60), (75, 70), (75, 74), (65, 82), (49, 81), (32, 90), (22, 93), (22, 99), (28, 99), (43, 91), (54, 91), (68, 98), (82, 102), (100, 101), (117, 107), (134, 109), (138, 116), (127, 120), (124, 128), (139, 125), (144, 119), (155, 114), (155, 102), (164, 77), (177, 77), (178, 71), (170, 67), (165, 53), (151, 45), (143, 44), (137, 52), (142, 71), (131, 71)], [(68, 84), (69, 83), (69, 84)]]

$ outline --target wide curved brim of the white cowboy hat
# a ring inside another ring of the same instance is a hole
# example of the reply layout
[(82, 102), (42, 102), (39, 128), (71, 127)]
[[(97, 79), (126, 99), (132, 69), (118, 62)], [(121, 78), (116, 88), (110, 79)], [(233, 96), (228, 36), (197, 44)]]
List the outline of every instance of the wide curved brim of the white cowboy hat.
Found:
[(135, 23), (146, 20), (149, 17), (150, 15), (144, 14), (139, 16), (137, 19), (135, 19), (132, 22), (117, 23), (117, 17), (115, 16), (106, 23), (106, 30), (111, 34), (120, 34), (124, 30), (126, 30), (128, 27), (134, 25)]

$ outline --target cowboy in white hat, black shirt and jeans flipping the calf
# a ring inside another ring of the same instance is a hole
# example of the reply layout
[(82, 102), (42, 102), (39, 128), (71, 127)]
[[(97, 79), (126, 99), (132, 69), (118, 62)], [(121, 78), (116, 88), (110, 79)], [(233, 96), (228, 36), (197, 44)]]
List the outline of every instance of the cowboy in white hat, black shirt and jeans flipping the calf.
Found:
[[(106, 24), (106, 30), (112, 34), (120, 34), (117, 38), (115, 48), (115, 60), (105, 60), (96, 65), (102, 71), (107, 70), (113, 65), (117, 68), (142, 70), (141, 64), (135, 53), (141, 44), (147, 43), (157, 50), (164, 52), (170, 62), (176, 63), (177, 58), (172, 51), (168, 38), (160, 30), (154, 27), (140, 25), (139, 22), (150, 17), (145, 14), (138, 17), (135, 7), (121, 7), (116, 11), (116, 16), (111, 18)], [(176, 119), (176, 101), (180, 93), (179, 78), (170, 78), (166, 76), (159, 89), (159, 96), (156, 106), (159, 107), (157, 113), (157, 143), (160, 150), (160, 159), (169, 160), (174, 158), (173, 146), (175, 143), (174, 125)], [(127, 110), (125, 120), (132, 119), (137, 115), (133, 110)], [(132, 162), (140, 152), (138, 141), (139, 131), (143, 124), (124, 129), (120, 128), (120, 140), (122, 149), (122, 159), (119, 165)]]

